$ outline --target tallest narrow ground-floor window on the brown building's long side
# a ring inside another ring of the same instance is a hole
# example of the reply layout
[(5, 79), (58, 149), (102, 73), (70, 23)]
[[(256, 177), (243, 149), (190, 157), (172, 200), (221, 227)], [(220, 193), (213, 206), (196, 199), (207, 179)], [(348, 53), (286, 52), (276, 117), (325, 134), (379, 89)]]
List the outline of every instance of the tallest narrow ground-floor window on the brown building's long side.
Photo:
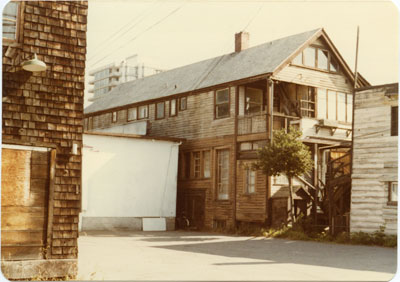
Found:
[(229, 199), (229, 150), (217, 151), (217, 199)]

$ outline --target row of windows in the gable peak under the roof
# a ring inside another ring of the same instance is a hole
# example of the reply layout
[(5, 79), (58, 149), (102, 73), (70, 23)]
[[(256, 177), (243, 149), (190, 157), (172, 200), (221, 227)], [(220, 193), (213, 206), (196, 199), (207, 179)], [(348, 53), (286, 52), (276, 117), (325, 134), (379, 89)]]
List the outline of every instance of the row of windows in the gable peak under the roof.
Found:
[(293, 59), (292, 64), (329, 72), (338, 72), (339, 69), (331, 52), (316, 46), (304, 49)]

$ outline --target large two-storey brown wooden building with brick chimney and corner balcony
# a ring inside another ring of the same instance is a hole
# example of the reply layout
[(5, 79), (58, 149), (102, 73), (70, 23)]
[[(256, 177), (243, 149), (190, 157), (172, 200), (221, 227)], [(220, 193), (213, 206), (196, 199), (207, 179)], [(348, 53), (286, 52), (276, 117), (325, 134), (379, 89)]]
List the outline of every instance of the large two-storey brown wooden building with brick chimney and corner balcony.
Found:
[(314, 156), (314, 171), (295, 183), (303, 213), (319, 204), (320, 149), (351, 140), (354, 74), (323, 29), (252, 48), (247, 33), (235, 36), (233, 53), (122, 84), (85, 109), (88, 131), (140, 124), (150, 136), (186, 139), (177, 215), (197, 228), (286, 221), (286, 177), (248, 169), (273, 130), (300, 128)]

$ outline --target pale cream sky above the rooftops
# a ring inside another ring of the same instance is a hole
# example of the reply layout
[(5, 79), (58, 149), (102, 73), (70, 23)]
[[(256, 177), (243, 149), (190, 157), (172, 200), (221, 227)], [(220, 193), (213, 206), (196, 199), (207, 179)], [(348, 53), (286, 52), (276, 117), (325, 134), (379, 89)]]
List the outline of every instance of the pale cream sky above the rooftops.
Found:
[(372, 85), (393, 83), (399, 74), (396, 4), (400, 6), (386, 0), (89, 0), (86, 71), (134, 54), (148, 66), (172, 69), (233, 52), (234, 35), (243, 30), (250, 33), (252, 47), (321, 27), (354, 71), (359, 26), (358, 71)]

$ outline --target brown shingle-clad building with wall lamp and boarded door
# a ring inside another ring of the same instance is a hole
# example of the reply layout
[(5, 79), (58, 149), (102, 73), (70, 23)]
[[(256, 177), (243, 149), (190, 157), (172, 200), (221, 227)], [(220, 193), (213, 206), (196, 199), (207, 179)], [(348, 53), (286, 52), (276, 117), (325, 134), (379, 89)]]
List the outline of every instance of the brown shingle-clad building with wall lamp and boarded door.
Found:
[[(77, 272), (87, 11), (86, 1), (12, 1), (3, 10), (1, 268), (9, 279)], [(34, 54), (46, 70), (22, 68)]]

